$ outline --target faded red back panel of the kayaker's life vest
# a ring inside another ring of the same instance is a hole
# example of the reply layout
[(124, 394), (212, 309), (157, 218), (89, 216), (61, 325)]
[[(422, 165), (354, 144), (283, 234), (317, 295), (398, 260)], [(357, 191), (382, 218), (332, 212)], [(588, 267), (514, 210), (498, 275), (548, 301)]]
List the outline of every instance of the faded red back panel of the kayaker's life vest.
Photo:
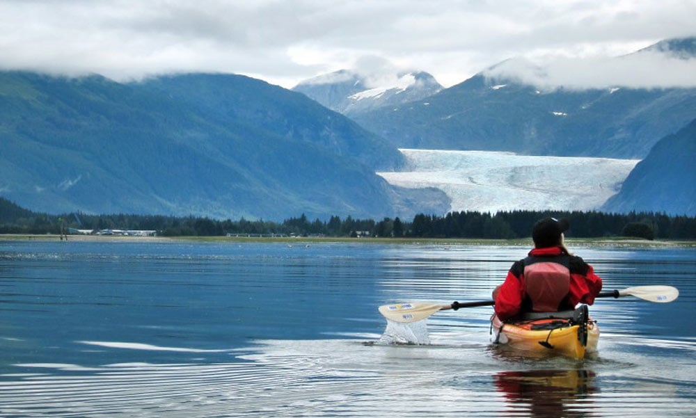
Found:
[(570, 291), (570, 257), (527, 257), (524, 262), (524, 291), (532, 312), (565, 309)]

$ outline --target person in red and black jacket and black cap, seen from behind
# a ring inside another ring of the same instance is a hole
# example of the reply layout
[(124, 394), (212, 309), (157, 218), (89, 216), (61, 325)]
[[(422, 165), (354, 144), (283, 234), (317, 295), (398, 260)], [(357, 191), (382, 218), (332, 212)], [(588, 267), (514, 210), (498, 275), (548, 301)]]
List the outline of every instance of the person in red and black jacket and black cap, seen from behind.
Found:
[(601, 278), (564, 245), (565, 219), (544, 218), (532, 227), (534, 248), (512, 264), (505, 282), (493, 291), (498, 319), (522, 318), (527, 312), (574, 310), (592, 305), (602, 289)]

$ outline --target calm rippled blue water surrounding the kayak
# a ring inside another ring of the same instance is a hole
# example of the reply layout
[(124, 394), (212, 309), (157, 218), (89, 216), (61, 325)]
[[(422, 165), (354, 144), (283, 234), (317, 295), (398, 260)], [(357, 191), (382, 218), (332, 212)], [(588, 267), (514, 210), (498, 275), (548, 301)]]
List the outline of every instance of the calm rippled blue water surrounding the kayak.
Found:
[(524, 360), (490, 307), (427, 346), (381, 344), (377, 307), (487, 300), (527, 248), (0, 242), (0, 416), (695, 416), (696, 249), (571, 250), (681, 296), (600, 299), (599, 357)]

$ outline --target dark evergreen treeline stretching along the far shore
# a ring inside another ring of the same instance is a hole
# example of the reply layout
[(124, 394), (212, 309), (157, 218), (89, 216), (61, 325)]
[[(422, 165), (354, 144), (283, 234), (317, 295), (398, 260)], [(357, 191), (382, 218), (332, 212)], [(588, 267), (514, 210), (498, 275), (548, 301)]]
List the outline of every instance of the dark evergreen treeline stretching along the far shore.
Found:
[(161, 236), (296, 235), (380, 236), (423, 238), (514, 239), (531, 234), (532, 225), (546, 216), (567, 218), (567, 236), (638, 236), (645, 239), (696, 239), (696, 218), (654, 213), (607, 214), (597, 211), (476, 211), (445, 216), (418, 214), (412, 220), (354, 219), (332, 216), (310, 220), (304, 214), (283, 222), (267, 220), (215, 220), (201, 217), (149, 215), (54, 216), (37, 214), (0, 198), (0, 234), (59, 234), (65, 230), (154, 230)]

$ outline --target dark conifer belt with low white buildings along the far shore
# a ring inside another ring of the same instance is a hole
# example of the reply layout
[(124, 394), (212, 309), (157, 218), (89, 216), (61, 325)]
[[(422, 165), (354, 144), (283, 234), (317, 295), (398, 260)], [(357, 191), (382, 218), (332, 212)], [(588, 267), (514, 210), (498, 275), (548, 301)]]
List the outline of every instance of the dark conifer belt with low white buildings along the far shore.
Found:
[[(417, 214), (411, 220), (331, 216), (310, 220), (302, 214), (275, 220), (219, 220), (195, 216), (138, 214), (38, 214), (0, 198), (0, 234), (58, 236), (58, 239), (139, 239), (187, 241), (331, 242), (362, 239), (388, 243), (487, 243), (528, 245), (532, 225), (541, 218), (566, 218), (569, 240), (580, 243), (690, 243), (696, 217), (656, 213), (598, 211), (452, 211), (444, 216)], [(585, 241), (583, 241), (585, 240)], [(590, 241), (587, 241), (590, 240)], [(628, 241), (627, 241), (628, 240)], [(632, 241), (631, 241), (632, 240)], [(672, 244), (668, 244), (672, 245)], [(688, 244), (681, 244), (688, 245)]]

